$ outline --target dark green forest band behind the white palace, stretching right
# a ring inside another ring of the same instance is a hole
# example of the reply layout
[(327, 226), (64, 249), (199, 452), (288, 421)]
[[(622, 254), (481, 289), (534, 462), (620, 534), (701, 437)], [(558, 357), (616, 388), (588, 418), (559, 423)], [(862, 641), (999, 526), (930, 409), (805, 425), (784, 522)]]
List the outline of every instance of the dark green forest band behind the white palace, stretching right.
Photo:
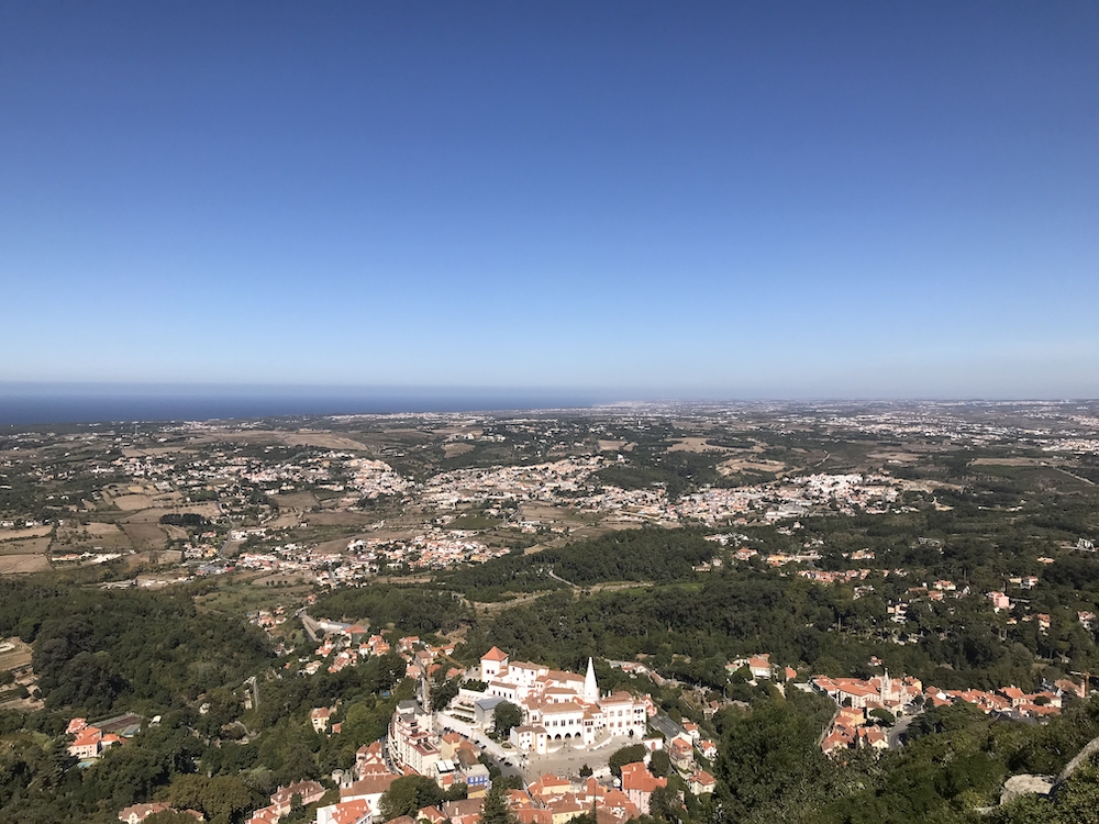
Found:
[[(888, 619), (880, 598), (852, 600), (841, 588), (762, 571), (719, 572), (702, 583), (548, 594), (506, 611), (471, 632), (469, 642), (562, 665), (589, 655), (632, 660), (640, 654), (662, 672), (714, 689), (726, 684), (730, 659), (761, 652), (826, 675), (869, 675), (867, 661), (877, 656), (893, 672), (944, 689), (1033, 688), (1035, 654), (1062, 646), (1078, 648), (1081, 659), (1094, 655), (1090, 633), (1078, 622), (1059, 624), (1063, 636), (1020, 632), (1012, 638), (983, 620), (983, 602), (953, 614), (935, 606), (919, 613), (929, 637), (900, 645), (874, 632)], [(841, 624), (843, 632), (829, 631)]]

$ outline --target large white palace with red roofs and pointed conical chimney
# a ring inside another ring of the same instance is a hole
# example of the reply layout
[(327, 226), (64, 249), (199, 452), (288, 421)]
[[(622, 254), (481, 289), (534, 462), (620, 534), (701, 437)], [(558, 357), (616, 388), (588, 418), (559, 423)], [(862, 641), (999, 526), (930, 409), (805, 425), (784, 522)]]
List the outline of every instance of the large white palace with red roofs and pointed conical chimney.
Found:
[(591, 746), (611, 737), (639, 742), (645, 737), (644, 701), (628, 692), (600, 695), (590, 658), (585, 677), (528, 661), (511, 662), (497, 647), (480, 664), (486, 694), (523, 711), (523, 724), (511, 731), (511, 743), (519, 749), (543, 755), (552, 745)]

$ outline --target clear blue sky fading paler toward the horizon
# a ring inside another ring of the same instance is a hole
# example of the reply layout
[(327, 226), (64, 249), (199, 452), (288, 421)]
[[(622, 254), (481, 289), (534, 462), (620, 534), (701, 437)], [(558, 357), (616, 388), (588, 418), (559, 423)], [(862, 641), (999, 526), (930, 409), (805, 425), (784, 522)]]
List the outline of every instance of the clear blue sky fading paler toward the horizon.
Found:
[(0, 380), (1099, 397), (1095, 2), (0, 0)]

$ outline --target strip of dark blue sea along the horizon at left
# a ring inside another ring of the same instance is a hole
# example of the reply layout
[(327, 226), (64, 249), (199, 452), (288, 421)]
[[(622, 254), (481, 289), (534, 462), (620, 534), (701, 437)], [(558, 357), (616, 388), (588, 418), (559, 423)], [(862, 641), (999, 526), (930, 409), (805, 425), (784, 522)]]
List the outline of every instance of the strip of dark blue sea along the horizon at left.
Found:
[(0, 382), (0, 425), (584, 408), (599, 392)]

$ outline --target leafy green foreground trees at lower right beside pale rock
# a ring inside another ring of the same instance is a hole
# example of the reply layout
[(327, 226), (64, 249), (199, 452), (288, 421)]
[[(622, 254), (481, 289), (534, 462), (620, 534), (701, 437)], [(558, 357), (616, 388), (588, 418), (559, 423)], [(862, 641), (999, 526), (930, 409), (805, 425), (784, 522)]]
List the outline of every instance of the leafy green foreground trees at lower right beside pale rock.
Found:
[[(1099, 821), (1099, 773), (1088, 766), (1055, 799), (995, 808), (1020, 772), (1056, 775), (1099, 735), (1099, 702), (1078, 703), (1047, 726), (998, 721), (968, 706), (929, 710), (903, 749), (830, 760), (817, 736), (831, 709), (815, 695), (762, 699), (715, 719), (721, 747), (712, 820), (746, 824), (1084, 824)], [(976, 810), (993, 805), (985, 816)], [(717, 811), (720, 810), (720, 813)], [(717, 813), (717, 814), (714, 814)]]

